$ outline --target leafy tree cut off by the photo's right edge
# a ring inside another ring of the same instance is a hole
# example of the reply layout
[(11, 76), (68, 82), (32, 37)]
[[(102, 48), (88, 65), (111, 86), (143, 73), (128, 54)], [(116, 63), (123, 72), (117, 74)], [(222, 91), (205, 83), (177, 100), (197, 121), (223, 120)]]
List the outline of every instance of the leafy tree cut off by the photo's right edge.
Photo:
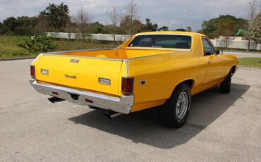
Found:
[(253, 39), (257, 44), (261, 43), (261, 10), (253, 19), (249, 31), (251, 39)]

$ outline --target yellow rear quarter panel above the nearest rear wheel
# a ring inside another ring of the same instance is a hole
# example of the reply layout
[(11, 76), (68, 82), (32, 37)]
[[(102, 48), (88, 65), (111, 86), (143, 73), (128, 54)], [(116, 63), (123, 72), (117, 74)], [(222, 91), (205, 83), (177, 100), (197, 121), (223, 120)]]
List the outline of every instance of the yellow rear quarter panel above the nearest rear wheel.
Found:
[[(185, 80), (193, 80), (193, 88), (204, 84), (206, 66), (204, 59), (191, 52), (128, 61), (128, 77), (135, 78), (133, 111), (164, 104)], [(140, 85), (141, 80), (146, 84)]]

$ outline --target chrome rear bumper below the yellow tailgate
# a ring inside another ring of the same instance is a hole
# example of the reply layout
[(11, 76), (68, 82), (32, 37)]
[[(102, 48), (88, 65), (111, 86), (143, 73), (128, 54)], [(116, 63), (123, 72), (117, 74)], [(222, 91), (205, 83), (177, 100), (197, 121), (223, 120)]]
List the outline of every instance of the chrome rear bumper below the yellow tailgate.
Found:
[[(37, 82), (34, 79), (30, 79), (29, 81), (32, 87), (37, 90), (37, 92), (50, 96), (56, 96), (60, 99), (65, 99), (67, 101), (83, 106), (90, 105), (126, 114), (130, 113), (133, 106), (133, 96), (107, 96), (104, 94), (95, 94), (92, 92), (80, 91), (78, 89), (71, 89), (56, 85), (47, 85)], [(58, 95), (53, 92), (58, 93)], [(73, 99), (71, 94), (77, 95), (78, 99)], [(90, 101), (92, 101), (92, 103)]]

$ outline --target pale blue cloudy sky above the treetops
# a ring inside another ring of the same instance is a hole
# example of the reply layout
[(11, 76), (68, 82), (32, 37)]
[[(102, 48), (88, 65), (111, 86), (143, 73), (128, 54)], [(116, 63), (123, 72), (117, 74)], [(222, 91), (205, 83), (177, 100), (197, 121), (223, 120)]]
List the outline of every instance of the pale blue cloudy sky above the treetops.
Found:
[[(69, 6), (70, 14), (75, 15), (80, 8), (87, 11), (93, 22), (109, 24), (107, 12), (116, 8), (124, 13), (128, 0), (0, 0), (0, 21), (10, 16), (37, 15), (49, 3)], [(166, 25), (170, 30), (186, 28), (190, 25), (193, 31), (200, 30), (204, 20), (217, 18), (219, 15), (235, 15), (237, 18), (248, 18), (249, 2), (253, 0), (135, 0), (138, 6), (138, 18), (145, 23), (150, 18), (159, 27)], [(261, 0), (256, 0), (257, 8)]]

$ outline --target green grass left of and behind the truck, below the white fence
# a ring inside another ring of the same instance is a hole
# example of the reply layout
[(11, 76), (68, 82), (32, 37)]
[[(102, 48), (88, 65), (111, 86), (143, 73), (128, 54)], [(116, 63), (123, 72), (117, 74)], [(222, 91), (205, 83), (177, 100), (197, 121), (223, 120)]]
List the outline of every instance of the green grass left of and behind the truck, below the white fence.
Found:
[[(35, 56), (30, 54), (27, 50), (18, 46), (24, 42), (23, 39), (28, 37), (21, 36), (0, 36), (0, 58), (18, 57), (18, 56)], [(56, 49), (54, 51), (68, 51), (75, 49), (103, 49), (119, 46), (119, 42), (81, 42), (68, 40), (54, 40)]]

